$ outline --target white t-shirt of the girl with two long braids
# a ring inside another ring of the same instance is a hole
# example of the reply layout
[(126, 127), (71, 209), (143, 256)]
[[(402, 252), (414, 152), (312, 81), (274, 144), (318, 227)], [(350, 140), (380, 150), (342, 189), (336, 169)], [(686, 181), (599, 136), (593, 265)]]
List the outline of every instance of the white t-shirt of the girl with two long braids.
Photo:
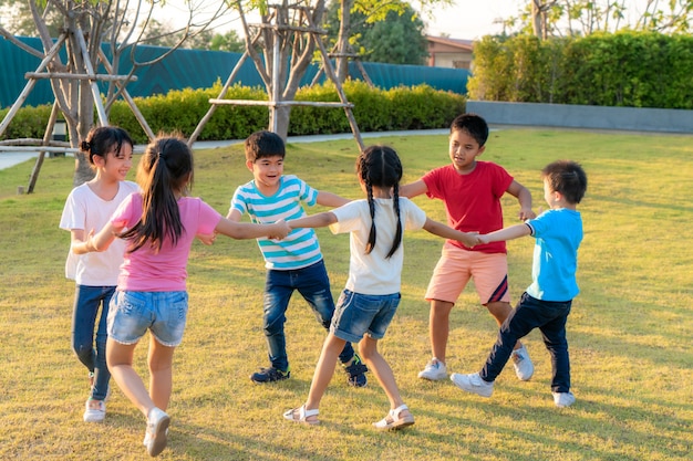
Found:
[[(390, 256), (394, 234), (397, 229), (393, 199), (375, 199), (375, 248), (365, 254), (371, 232), (371, 213), (365, 199), (351, 201), (332, 210), (338, 222), (330, 226), (332, 233), (351, 232), (349, 248), (349, 279), (346, 290), (360, 294), (393, 294), (400, 292), (403, 245)], [(402, 230), (422, 229), (426, 213), (411, 200), (400, 198), (400, 220)]]

